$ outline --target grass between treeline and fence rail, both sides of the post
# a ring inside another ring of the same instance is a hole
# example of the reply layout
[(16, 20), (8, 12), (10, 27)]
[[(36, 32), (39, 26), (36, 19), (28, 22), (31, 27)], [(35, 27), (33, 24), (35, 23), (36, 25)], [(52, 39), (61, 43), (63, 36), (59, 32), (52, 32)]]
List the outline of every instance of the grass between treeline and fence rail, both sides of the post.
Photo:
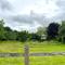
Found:
[[(54, 41), (26, 42), (29, 46), (29, 52), (64, 52), (65, 44)], [(0, 52), (24, 53), (25, 43), (18, 41), (0, 41)]]

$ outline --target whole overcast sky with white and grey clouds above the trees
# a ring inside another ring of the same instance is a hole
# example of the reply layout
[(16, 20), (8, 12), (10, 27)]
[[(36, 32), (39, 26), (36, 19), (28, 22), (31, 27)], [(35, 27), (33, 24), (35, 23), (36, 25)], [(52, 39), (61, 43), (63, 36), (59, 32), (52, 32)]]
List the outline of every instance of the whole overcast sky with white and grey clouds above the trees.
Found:
[(0, 0), (0, 20), (16, 30), (36, 31), (65, 20), (65, 0)]

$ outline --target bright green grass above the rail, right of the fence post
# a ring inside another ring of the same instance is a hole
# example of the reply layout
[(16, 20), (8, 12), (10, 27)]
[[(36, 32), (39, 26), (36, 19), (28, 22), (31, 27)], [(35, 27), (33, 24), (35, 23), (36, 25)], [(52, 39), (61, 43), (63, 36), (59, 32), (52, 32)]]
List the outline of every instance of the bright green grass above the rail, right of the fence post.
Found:
[(64, 52), (65, 44), (35, 44), (30, 48), (30, 52)]

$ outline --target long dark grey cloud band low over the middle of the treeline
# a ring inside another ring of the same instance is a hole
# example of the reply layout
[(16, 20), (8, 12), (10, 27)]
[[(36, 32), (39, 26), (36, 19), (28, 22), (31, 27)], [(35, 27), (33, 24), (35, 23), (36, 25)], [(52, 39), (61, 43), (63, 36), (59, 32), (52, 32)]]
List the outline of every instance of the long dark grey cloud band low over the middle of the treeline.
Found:
[(40, 25), (47, 26), (50, 23), (50, 20), (47, 18), (44, 15), (39, 15), (36, 13), (30, 15), (14, 15), (14, 16), (10, 16), (9, 20), (11, 20), (12, 22), (29, 24), (29, 25), (34, 25), (36, 22)]

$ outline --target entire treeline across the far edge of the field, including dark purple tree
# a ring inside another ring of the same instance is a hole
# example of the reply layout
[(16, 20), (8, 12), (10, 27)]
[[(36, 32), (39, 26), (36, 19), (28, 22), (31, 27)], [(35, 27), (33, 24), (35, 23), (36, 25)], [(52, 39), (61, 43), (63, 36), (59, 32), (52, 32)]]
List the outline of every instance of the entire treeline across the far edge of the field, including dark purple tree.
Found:
[(4, 26), (3, 20), (0, 21), (0, 40), (17, 40), (17, 41), (44, 41), (57, 40), (65, 42), (65, 21), (62, 24), (51, 23), (47, 28), (39, 27), (36, 34), (28, 31), (12, 30)]

